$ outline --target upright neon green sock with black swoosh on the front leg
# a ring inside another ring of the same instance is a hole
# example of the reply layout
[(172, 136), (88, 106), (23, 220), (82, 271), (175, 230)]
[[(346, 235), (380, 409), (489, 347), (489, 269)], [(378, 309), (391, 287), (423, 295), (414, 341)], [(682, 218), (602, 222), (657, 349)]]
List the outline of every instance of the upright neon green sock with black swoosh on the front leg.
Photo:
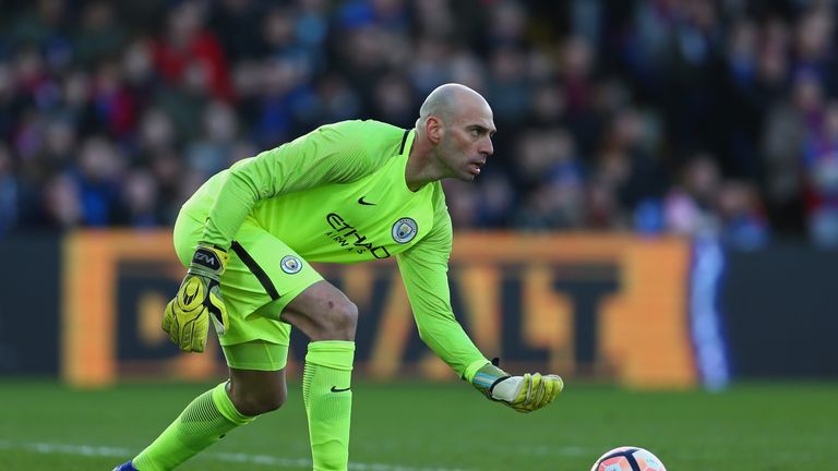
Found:
[(302, 376), (302, 399), (309, 416), (314, 471), (344, 471), (349, 463), (349, 422), (352, 413), (352, 391), (349, 387), (354, 357), (352, 341), (309, 343)]

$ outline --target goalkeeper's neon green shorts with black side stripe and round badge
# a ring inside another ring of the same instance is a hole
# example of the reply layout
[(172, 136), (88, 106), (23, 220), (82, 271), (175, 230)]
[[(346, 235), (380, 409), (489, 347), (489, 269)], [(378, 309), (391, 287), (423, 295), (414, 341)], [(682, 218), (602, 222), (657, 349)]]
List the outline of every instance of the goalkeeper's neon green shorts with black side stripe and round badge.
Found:
[[(184, 267), (189, 266), (203, 231), (203, 220), (181, 210), (173, 239), (175, 251)], [(244, 219), (236, 233), (229, 255), (222, 275), (229, 325), (218, 337), (227, 364), (244, 370), (280, 370), (286, 364), (291, 326), (279, 321), (279, 314), (323, 277), (251, 218)]]

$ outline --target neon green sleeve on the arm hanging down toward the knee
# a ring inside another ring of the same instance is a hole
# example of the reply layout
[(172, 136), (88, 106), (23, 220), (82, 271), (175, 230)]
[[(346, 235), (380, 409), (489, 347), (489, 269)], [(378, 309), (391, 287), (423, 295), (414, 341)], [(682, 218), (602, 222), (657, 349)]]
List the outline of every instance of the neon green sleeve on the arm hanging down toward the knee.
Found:
[(228, 170), (207, 216), (203, 242), (227, 247), (253, 206), (262, 200), (325, 183), (350, 182), (375, 167), (364, 121), (324, 125)]

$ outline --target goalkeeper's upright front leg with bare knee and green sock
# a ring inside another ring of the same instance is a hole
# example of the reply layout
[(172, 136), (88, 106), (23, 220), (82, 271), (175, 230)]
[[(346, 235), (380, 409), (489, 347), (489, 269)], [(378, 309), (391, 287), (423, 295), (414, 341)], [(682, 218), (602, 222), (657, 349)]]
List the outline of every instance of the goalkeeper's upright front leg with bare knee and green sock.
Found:
[(296, 297), (282, 318), (312, 340), (306, 355), (302, 397), (314, 470), (346, 470), (358, 310), (337, 288), (320, 281)]

